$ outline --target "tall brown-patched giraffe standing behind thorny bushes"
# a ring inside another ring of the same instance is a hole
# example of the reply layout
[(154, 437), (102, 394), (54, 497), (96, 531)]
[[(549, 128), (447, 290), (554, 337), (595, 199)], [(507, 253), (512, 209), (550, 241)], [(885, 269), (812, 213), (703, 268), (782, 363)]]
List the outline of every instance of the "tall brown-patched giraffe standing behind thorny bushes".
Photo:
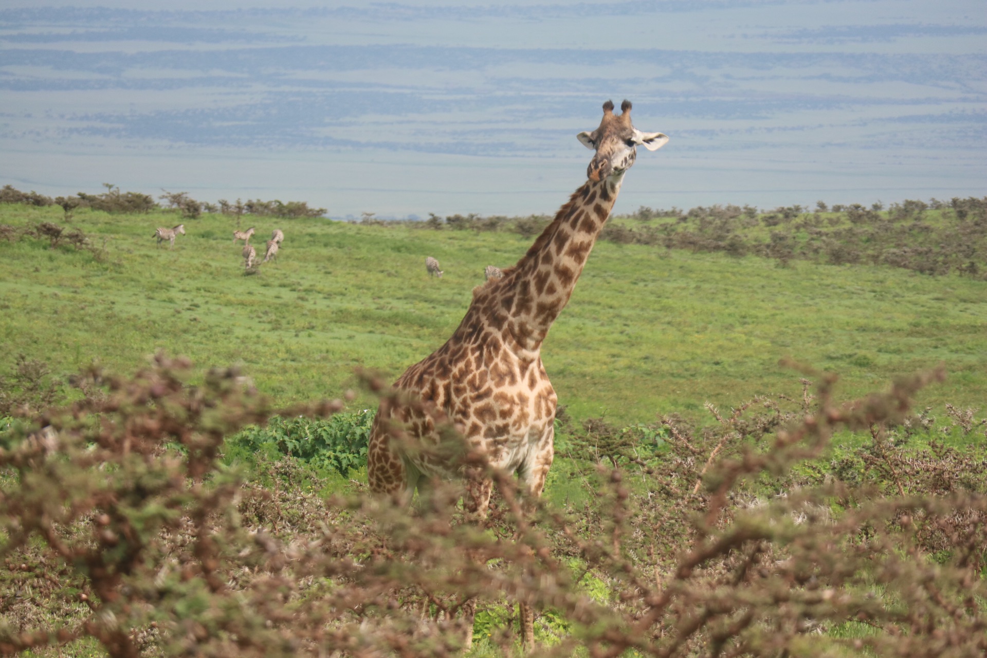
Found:
[[(403, 450), (400, 439), (387, 432), (393, 419), (423, 445), (438, 443), (438, 425), (454, 423), (469, 447), (485, 455), (491, 466), (518, 475), (533, 496), (541, 495), (554, 456), (558, 402), (542, 365), (542, 342), (569, 302), (624, 174), (635, 162), (636, 147), (654, 151), (668, 141), (660, 132), (644, 133), (631, 124), (630, 101), (624, 101), (620, 114), (613, 110), (612, 102), (604, 103), (599, 127), (576, 135), (595, 151), (586, 169), (588, 180), (516, 264), (474, 289), (452, 337), (395, 383), (397, 390), (417, 396), (430, 410), (381, 403), (367, 455), (373, 491), (410, 501), (418, 484), (430, 478), (464, 477), (437, 455)], [(484, 518), (493, 483), (487, 478), (466, 480), (466, 507)], [(466, 609), (467, 627), (472, 628), (472, 608)], [(534, 616), (523, 603), (520, 614), (523, 640), (531, 647)], [(468, 646), (471, 641), (468, 631)]]

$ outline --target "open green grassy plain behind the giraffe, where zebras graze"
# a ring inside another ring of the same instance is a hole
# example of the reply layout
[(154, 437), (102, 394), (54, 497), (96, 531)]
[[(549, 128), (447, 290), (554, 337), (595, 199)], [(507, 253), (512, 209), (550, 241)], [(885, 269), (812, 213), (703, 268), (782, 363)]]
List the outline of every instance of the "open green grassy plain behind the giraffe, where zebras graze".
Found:
[[(57, 207), (0, 205), (0, 224), (61, 220)], [(275, 263), (244, 276), (232, 221), (186, 221), (174, 251), (156, 248), (174, 212), (81, 210), (74, 225), (109, 238), (109, 256), (24, 239), (0, 242), (0, 339), (8, 354), (71, 372), (98, 359), (129, 372), (158, 349), (200, 365), (241, 363), (277, 402), (337, 397), (353, 369), (394, 379), (456, 328), (488, 263), (507, 265), (532, 239), (514, 233), (247, 218)], [(445, 276), (427, 276), (435, 256)], [(797, 390), (795, 357), (842, 375), (859, 395), (945, 363), (949, 380), (921, 404), (987, 397), (987, 282), (868, 265), (692, 254), (597, 244), (543, 348), (560, 402), (576, 418), (650, 421), (698, 415), (703, 402)], [(373, 406), (357, 392), (351, 408)]]

